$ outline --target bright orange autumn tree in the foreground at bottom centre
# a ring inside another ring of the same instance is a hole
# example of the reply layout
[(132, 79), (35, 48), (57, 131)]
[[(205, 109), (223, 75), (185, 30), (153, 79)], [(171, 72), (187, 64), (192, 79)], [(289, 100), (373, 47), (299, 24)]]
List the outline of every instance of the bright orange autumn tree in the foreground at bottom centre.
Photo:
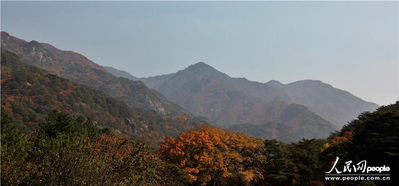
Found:
[(203, 125), (180, 134), (176, 140), (166, 137), (159, 154), (162, 159), (184, 170), (195, 185), (213, 185), (216, 182), (249, 184), (262, 175), (258, 171), (260, 168), (256, 167), (265, 160), (260, 153), (262, 149), (262, 140)]

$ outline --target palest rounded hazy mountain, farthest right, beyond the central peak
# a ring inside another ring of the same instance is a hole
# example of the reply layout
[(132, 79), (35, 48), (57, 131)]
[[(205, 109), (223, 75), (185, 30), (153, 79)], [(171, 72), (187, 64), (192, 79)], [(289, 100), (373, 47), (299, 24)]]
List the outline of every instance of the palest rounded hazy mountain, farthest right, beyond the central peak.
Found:
[(284, 91), (291, 102), (305, 105), (337, 128), (355, 119), (361, 112), (374, 111), (379, 107), (376, 103), (318, 80), (302, 80), (285, 85), (272, 80), (266, 85)]

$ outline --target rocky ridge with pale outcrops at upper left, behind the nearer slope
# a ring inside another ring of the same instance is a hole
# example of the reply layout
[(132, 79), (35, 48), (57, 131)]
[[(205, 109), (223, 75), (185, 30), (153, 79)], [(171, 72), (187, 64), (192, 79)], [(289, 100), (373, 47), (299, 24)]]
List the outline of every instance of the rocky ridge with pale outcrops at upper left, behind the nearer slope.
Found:
[(115, 97), (132, 108), (153, 109), (159, 113), (184, 114), (179, 105), (167, 100), (139, 81), (115, 77), (81, 54), (62, 51), (49, 44), (24, 41), (1, 32), (1, 48), (18, 55), (22, 62), (51, 74), (83, 84)]

